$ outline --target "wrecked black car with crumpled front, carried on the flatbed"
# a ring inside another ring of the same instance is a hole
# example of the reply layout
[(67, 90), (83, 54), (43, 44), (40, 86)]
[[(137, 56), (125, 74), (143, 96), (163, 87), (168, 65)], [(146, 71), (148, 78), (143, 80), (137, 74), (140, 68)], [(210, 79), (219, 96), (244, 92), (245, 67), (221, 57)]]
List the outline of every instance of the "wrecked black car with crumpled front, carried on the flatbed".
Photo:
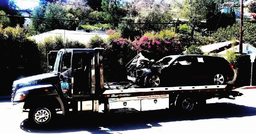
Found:
[(154, 62), (141, 53), (127, 65), (128, 79), (146, 87), (223, 85), (234, 79), (225, 58), (208, 55), (171, 55)]

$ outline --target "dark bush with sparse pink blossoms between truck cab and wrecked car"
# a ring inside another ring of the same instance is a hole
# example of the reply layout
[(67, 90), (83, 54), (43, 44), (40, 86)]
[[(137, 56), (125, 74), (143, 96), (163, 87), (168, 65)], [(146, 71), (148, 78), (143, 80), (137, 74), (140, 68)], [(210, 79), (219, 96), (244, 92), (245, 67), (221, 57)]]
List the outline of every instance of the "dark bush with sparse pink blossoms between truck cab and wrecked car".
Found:
[(101, 44), (105, 48), (105, 76), (111, 82), (127, 80), (125, 65), (137, 55), (132, 41), (124, 38), (111, 38)]

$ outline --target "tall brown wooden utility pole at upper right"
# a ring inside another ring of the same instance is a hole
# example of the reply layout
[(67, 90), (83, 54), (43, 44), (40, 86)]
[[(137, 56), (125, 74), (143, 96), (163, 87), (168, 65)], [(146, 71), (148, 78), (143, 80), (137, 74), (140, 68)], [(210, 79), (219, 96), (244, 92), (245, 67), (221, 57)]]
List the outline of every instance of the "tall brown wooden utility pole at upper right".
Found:
[(244, 33), (244, 0), (240, 0), (240, 38), (239, 38), (239, 53), (242, 54), (242, 36)]

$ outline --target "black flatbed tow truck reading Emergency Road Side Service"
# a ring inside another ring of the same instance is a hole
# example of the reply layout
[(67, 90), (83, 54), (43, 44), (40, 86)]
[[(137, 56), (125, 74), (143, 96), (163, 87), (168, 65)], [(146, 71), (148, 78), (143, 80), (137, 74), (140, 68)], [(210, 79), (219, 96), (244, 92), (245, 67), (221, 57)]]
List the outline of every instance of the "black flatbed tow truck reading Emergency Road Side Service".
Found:
[(48, 65), (54, 65), (51, 73), (14, 81), (12, 108), (28, 112), (29, 121), (43, 125), (49, 124), (58, 111), (63, 115), (97, 113), (103, 105), (104, 113), (113, 114), (175, 106), (187, 113), (195, 105), (206, 104), (207, 99), (235, 99), (242, 95), (229, 85), (143, 88), (126, 82), (107, 83), (103, 77), (103, 51), (95, 48), (50, 52)]

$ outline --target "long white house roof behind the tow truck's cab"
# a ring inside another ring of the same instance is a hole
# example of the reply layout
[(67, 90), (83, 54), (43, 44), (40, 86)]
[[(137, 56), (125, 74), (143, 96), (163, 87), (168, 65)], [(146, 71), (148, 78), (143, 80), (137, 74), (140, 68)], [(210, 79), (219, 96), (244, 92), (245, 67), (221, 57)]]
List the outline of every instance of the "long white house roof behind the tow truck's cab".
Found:
[(94, 37), (95, 35), (98, 35), (102, 37), (103, 39), (107, 39), (109, 35), (107, 34), (98, 34), (98, 33), (86, 33), (86, 32), (77, 32), (72, 30), (63, 30), (63, 29), (55, 29), (49, 32), (45, 32), (42, 34), (34, 35), (29, 38), (35, 39), (37, 43), (44, 41), (45, 38), (52, 36), (53, 38), (56, 35), (62, 35), (62, 38), (68, 38), (68, 40), (78, 40), (81, 43), (88, 43), (91, 37)]

